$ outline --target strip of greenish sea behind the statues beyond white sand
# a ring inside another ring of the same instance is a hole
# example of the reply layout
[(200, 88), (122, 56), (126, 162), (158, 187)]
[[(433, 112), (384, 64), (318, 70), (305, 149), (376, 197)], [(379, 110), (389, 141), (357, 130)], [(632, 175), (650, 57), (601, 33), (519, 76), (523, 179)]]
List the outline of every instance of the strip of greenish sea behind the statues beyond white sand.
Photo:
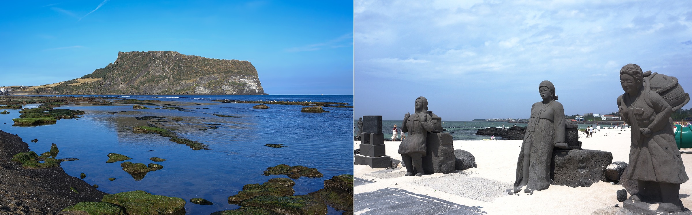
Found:
[[(356, 119), (357, 123), (358, 119)], [(385, 134), (385, 139), (392, 138), (392, 127), (397, 125), (401, 128), (401, 120), (383, 120), (382, 121), (382, 133)], [(507, 123), (507, 122), (489, 122), (489, 121), (442, 121), (442, 128), (446, 129), (445, 132), (452, 134), (452, 138), (455, 141), (480, 141), (482, 139), (490, 139), (490, 136), (475, 135), (475, 133), (482, 128), (486, 127), (511, 127), (513, 125), (526, 127), (527, 123)], [(579, 129), (584, 129), (588, 125), (579, 125)], [(355, 129), (355, 128), (354, 128)], [(355, 133), (355, 132), (354, 132)], [(500, 140), (500, 137), (495, 137), (495, 139)]]

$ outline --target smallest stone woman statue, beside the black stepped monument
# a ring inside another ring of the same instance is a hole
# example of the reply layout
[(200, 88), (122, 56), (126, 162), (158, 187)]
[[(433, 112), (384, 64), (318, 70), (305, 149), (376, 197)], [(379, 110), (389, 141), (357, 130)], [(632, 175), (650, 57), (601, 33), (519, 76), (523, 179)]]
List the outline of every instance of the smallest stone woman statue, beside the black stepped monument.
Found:
[(401, 160), (406, 165), (406, 176), (424, 175), (422, 158), (426, 156), (426, 139), (432, 132), (432, 116), (428, 114), (428, 99), (420, 96), (416, 99), (415, 113), (406, 113), (401, 123), (401, 131), (408, 132), (406, 139), (399, 145)]

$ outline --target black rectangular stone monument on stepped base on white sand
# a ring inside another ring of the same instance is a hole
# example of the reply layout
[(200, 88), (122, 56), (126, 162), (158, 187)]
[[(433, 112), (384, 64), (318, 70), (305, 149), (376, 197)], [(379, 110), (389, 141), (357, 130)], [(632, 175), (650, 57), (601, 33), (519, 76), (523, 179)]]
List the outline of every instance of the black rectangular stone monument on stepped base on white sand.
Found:
[(361, 152), (354, 156), (354, 165), (369, 165), (372, 168), (392, 167), (390, 156), (385, 155), (382, 116), (363, 116)]

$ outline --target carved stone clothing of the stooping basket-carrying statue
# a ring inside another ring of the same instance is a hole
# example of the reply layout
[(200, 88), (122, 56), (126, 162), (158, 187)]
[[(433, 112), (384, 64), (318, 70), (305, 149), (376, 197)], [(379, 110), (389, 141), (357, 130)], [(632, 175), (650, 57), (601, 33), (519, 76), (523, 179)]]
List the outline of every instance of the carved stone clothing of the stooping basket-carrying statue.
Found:
[[(634, 101), (632, 101), (634, 100)], [(656, 181), (682, 184), (687, 181), (680, 151), (675, 143), (670, 116), (657, 116), (669, 105), (656, 92), (645, 89), (638, 98), (622, 94), (617, 98), (623, 121), (632, 127), (630, 163), (623, 177), (637, 181)], [(648, 128), (652, 134), (641, 134), (639, 128)]]

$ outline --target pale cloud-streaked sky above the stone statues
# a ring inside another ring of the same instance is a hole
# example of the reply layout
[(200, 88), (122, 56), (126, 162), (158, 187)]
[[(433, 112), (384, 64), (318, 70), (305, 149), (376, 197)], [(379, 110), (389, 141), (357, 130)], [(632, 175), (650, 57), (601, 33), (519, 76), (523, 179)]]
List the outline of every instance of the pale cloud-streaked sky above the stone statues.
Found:
[(565, 114), (608, 114), (627, 63), (692, 92), (692, 1), (354, 4), (356, 117), (403, 119), (426, 96), (443, 120), (528, 118), (543, 80)]

